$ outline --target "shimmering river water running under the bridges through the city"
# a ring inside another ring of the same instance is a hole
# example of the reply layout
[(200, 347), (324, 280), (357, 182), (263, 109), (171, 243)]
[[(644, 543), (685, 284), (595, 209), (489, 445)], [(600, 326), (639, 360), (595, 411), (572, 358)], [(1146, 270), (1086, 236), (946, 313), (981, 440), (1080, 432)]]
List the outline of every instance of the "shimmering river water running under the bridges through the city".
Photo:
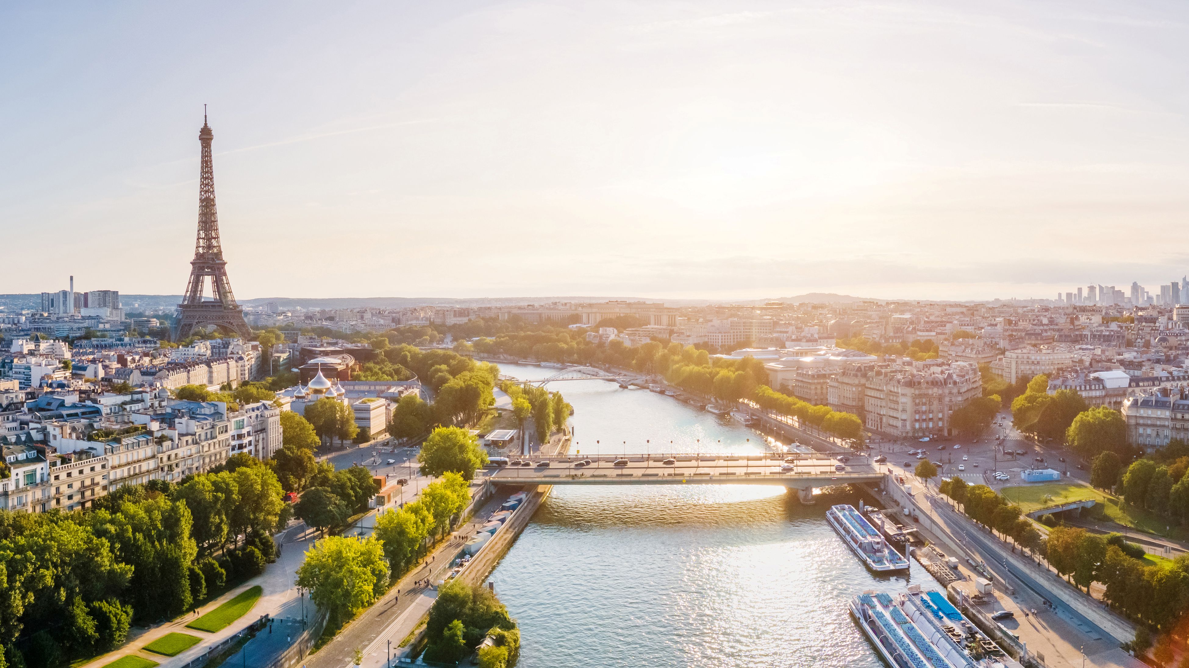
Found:
[[(669, 396), (606, 381), (551, 389), (574, 406), (583, 453), (762, 450), (756, 432)], [(520, 622), (520, 666), (881, 666), (845, 604), (908, 579), (870, 574), (826, 523), (831, 502), (805, 507), (779, 486), (553, 488), (491, 574)], [(916, 561), (910, 578), (937, 585)]]

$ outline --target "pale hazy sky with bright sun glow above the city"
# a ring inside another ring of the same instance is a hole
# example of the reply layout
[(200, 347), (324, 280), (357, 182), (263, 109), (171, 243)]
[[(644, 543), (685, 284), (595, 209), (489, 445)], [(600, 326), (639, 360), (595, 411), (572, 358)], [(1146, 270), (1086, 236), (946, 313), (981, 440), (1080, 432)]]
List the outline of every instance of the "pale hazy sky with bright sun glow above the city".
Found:
[(1052, 298), (1189, 273), (1189, 4), (6, 2), (0, 293)]

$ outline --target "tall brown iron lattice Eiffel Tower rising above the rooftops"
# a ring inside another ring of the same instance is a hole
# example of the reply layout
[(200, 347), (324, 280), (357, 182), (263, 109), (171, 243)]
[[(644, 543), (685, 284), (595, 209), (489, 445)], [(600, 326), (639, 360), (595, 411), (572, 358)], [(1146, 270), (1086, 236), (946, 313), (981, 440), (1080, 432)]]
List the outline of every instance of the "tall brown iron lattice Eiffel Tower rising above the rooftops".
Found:
[[(206, 106), (202, 110), (202, 129), (199, 131), (199, 142), (202, 145), (202, 168), (199, 177), (199, 241), (194, 247), (194, 260), (190, 261), (190, 281), (185, 287), (182, 303), (177, 305), (177, 320), (174, 322), (174, 341), (181, 341), (197, 327), (214, 325), (227, 332), (233, 332), (247, 341), (252, 330), (244, 322), (244, 311), (235, 304), (227, 279), (227, 261), (222, 259), (222, 246), (219, 243), (219, 214), (215, 212), (215, 173), (210, 160), (210, 141), (215, 138), (207, 125)], [(203, 299), (203, 285), (210, 276), (210, 292), (214, 299)]]

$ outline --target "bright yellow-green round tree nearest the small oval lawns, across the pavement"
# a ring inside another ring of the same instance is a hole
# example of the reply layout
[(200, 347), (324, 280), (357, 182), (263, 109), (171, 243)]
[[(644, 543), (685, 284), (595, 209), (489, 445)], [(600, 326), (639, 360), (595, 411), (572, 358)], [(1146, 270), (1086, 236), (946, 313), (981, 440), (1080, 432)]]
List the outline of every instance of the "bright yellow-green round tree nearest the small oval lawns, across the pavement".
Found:
[(322, 539), (306, 553), (297, 584), (310, 590), (314, 603), (331, 611), (333, 623), (341, 624), (371, 605), (388, 586), (380, 542), (372, 536)]

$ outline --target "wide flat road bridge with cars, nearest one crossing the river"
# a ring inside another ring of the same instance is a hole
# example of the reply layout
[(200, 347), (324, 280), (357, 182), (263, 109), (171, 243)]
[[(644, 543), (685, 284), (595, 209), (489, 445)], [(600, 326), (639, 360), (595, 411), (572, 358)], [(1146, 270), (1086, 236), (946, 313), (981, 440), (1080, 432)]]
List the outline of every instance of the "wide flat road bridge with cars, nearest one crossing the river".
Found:
[[(674, 463), (665, 464), (666, 459)], [(591, 463), (580, 464), (584, 460)], [(812, 502), (814, 488), (880, 482), (885, 476), (867, 457), (856, 456), (842, 463), (819, 452), (572, 454), (530, 457), (528, 465), (515, 465), (516, 462), (512, 459), (512, 464), (487, 469), (482, 475), (507, 485), (782, 485), (797, 489), (805, 502)], [(839, 465), (842, 471), (837, 469)]]

